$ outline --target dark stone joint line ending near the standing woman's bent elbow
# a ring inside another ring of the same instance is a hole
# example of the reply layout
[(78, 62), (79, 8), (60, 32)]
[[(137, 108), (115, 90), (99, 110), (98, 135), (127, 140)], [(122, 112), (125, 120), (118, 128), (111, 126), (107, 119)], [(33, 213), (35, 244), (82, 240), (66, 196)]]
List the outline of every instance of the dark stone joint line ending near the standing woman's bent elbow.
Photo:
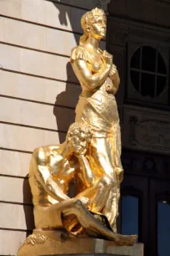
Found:
[(6, 71), (6, 72), (15, 73), (15, 74), (24, 74), (24, 75), (28, 75), (28, 76), (33, 76), (33, 77), (41, 78), (41, 79), (53, 80), (53, 81), (57, 81), (57, 82), (67, 83), (67, 84), (79, 85), (77, 82), (72, 82), (72, 81), (68, 81), (68, 80), (54, 79), (52, 77), (42, 76), (42, 75), (38, 75), (38, 74), (30, 74), (30, 73), (25, 73), (25, 72), (13, 70), (13, 69), (5, 69), (5, 68), (2, 67), (1, 64), (0, 64), (0, 70)]

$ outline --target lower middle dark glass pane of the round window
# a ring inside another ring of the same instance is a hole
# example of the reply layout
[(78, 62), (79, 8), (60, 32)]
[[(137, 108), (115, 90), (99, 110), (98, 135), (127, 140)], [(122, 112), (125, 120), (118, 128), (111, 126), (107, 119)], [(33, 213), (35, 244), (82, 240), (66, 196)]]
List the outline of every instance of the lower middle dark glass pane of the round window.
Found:
[(155, 74), (142, 73), (141, 78), (141, 95), (151, 96), (155, 95)]

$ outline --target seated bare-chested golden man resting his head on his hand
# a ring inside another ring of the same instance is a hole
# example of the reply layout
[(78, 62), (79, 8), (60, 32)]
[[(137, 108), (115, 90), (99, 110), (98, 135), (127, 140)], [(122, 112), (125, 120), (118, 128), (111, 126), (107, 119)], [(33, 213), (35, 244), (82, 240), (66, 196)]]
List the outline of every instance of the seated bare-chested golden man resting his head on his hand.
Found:
[[(94, 177), (84, 156), (91, 137), (91, 128), (82, 123), (74, 123), (67, 132), (66, 141), (61, 145), (42, 146), (33, 151), (29, 182), (35, 226), (46, 231), (64, 228), (71, 231), (69, 218), (75, 216), (85, 233), (113, 240), (117, 244), (131, 245), (136, 238), (113, 233), (111, 228), (98, 222), (87, 210), (87, 207), (94, 208), (96, 212), (103, 207), (112, 189), (112, 181), (108, 177)], [(77, 169), (82, 172), (85, 190), (83, 194), (70, 198), (67, 192)], [(66, 221), (63, 221), (64, 218)]]

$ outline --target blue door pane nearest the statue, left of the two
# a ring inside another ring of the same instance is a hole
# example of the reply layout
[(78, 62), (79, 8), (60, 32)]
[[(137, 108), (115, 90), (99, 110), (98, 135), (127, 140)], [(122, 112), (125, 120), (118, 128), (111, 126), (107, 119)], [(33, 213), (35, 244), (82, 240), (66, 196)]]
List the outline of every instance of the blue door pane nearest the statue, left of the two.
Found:
[(122, 197), (122, 234), (138, 234), (138, 197)]

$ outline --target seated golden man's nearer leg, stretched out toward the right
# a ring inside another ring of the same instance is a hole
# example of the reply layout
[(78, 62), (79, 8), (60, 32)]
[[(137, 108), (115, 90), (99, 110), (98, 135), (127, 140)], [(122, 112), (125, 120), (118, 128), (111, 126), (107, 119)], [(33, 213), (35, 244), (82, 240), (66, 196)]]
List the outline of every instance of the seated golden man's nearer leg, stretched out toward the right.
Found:
[[(62, 217), (64, 218), (65, 216), (73, 214), (77, 217), (78, 222), (82, 228), (85, 229), (86, 233), (93, 237), (107, 238), (120, 245), (133, 245), (136, 241), (136, 236), (122, 236), (114, 234), (112, 231), (105, 228), (101, 223), (97, 222), (92, 214), (88, 212), (87, 208), (82, 205), (82, 202), (76, 198), (58, 202), (50, 207), (46, 207), (45, 212), (46, 216), (44, 215), (44, 218), (47, 218), (46, 224), (48, 221), (49, 230), (52, 228), (60, 229)], [(61, 217), (59, 221), (58, 216)], [(38, 228), (45, 228), (47, 230), (47, 226), (43, 227), (43, 223)]]

